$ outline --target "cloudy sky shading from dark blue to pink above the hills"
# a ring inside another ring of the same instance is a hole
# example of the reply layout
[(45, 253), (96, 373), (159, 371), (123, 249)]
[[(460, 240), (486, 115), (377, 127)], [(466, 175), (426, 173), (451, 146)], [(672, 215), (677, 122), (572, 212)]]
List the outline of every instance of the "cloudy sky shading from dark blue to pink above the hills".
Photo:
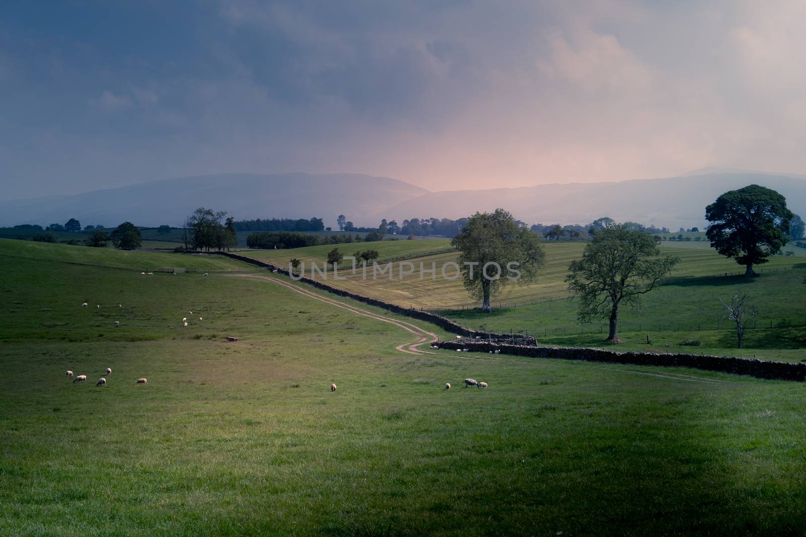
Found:
[(806, 2), (27, 2), (0, 199), (222, 172), (432, 191), (806, 172)]

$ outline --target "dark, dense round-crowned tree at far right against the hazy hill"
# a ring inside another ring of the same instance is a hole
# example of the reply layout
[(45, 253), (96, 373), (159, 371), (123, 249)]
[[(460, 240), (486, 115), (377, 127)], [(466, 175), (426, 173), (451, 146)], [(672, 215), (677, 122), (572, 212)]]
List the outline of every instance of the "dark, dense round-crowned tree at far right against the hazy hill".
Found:
[(745, 275), (754, 276), (753, 266), (766, 263), (787, 243), (793, 216), (786, 198), (751, 184), (725, 192), (705, 208), (711, 222), (705, 235), (717, 252), (746, 265)]

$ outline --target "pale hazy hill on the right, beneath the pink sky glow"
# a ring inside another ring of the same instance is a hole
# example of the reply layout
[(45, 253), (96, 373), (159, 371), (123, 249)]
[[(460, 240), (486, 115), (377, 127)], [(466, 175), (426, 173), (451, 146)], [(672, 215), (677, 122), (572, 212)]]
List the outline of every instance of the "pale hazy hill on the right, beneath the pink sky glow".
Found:
[(430, 192), (405, 200), (383, 213), (384, 217), (467, 217), (476, 211), (507, 209), (522, 221), (550, 224), (587, 224), (596, 217), (617, 221), (664, 225), (670, 229), (702, 227), (705, 206), (721, 193), (760, 184), (786, 196), (787, 206), (806, 215), (806, 180), (758, 172), (704, 173), (665, 179), (629, 180), (618, 183), (542, 184), (526, 188)]

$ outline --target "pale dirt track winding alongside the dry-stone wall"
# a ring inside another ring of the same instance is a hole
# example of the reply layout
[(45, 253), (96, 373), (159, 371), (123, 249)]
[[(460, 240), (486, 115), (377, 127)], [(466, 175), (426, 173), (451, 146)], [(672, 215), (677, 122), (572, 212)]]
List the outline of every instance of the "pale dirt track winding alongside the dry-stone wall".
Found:
[[(235, 275), (225, 275), (227, 277), (235, 277), (235, 278), (254, 278), (254, 279), (263, 279), (271, 283), (276, 283), (282, 287), (285, 287), (291, 291), (297, 292), (300, 295), (304, 295), (308, 298), (318, 300), (320, 302), (324, 302), (325, 304), (330, 304), (331, 306), (335, 306), (336, 308), (342, 308), (347, 310), (348, 312), (355, 313), (355, 315), (360, 315), (364, 317), (369, 317), (370, 319), (380, 320), (384, 323), (394, 324), (397, 327), (403, 328), (409, 333), (412, 333), (418, 339), (417, 341), (410, 341), (407, 343), (401, 343), (401, 345), (397, 345), (395, 349), (399, 350), (401, 353), (408, 353), (408, 354), (433, 354), (436, 356), (447, 357), (444, 353), (434, 353), (427, 350), (419, 349), (420, 345), (424, 344), (431, 344), (436, 343), (439, 341), (439, 337), (425, 328), (419, 327), (416, 324), (412, 324), (406, 322), (405, 320), (394, 319), (393, 317), (388, 317), (384, 315), (380, 315), (378, 313), (369, 312), (368, 310), (356, 308), (351, 304), (345, 304), (340, 302), (339, 300), (330, 299), (326, 296), (318, 295), (314, 293), (314, 291), (310, 291), (305, 287), (301, 287), (294, 283), (286, 282), (279, 278), (272, 278), (271, 276), (260, 276), (260, 275), (253, 275), (253, 274), (235, 274)], [(451, 353), (452, 358), (461, 358), (463, 360), (476, 360), (476, 361), (506, 361), (507, 363), (515, 363), (515, 364), (525, 364), (525, 365), (534, 365), (536, 362), (534, 361), (520, 361), (520, 360), (504, 360), (501, 358), (495, 357), (471, 357), (471, 356), (453, 356)], [(724, 380), (719, 380), (717, 378), (708, 378), (708, 377), (697, 377), (695, 375), (689, 374), (679, 374), (679, 373), (667, 373), (667, 372), (659, 372), (659, 373), (648, 373), (646, 371), (636, 371), (636, 370), (621, 370), (613, 367), (605, 367), (605, 366), (593, 366), (596, 369), (606, 369), (610, 371), (618, 371), (621, 373), (629, 373), (629, 374), (639, 374), (639, 375), (646, 375), (649, 377), (657, 377), (657, 378), (668, 378), (671, 380), (681, 381), (681, 382), (702, 382), (704, 384), (738, 384), (738, 382), (728, 382)]]

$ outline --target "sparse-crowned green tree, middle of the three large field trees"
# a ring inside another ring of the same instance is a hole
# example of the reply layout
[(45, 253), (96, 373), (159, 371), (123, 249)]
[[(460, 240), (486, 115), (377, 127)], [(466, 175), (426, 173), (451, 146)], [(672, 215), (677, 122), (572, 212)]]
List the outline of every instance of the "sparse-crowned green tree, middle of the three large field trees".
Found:
[(640, 231), (615, 225), (597, 232), (585, 246), (582, 258), (571, 262), (565, 281), (580, 299), (577, 319), (587, 322), (609, 317), (607, 341), (618, 339), (618, 308), (641, 305), (641, 295), (654, 289), (679, 262), (673, 256), (659, 257), (653, 238)]

